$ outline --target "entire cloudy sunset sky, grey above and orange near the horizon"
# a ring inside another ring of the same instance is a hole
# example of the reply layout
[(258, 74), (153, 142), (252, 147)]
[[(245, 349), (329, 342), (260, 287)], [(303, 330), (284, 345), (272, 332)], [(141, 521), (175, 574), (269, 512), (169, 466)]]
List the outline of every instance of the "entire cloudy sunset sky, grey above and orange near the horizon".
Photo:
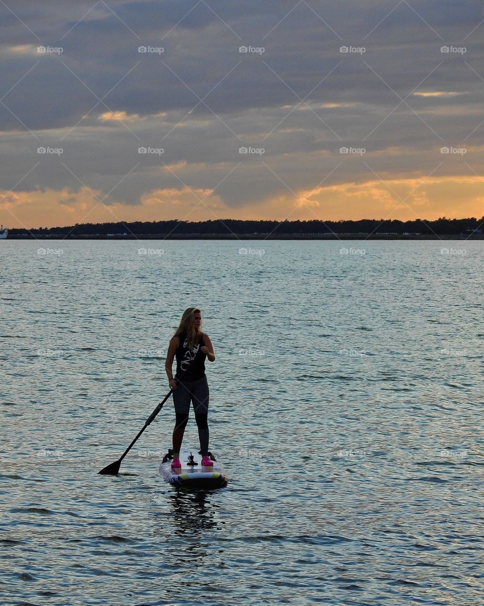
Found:
[(484, 215), (484, 3), (0, 2), (0, 222)]

